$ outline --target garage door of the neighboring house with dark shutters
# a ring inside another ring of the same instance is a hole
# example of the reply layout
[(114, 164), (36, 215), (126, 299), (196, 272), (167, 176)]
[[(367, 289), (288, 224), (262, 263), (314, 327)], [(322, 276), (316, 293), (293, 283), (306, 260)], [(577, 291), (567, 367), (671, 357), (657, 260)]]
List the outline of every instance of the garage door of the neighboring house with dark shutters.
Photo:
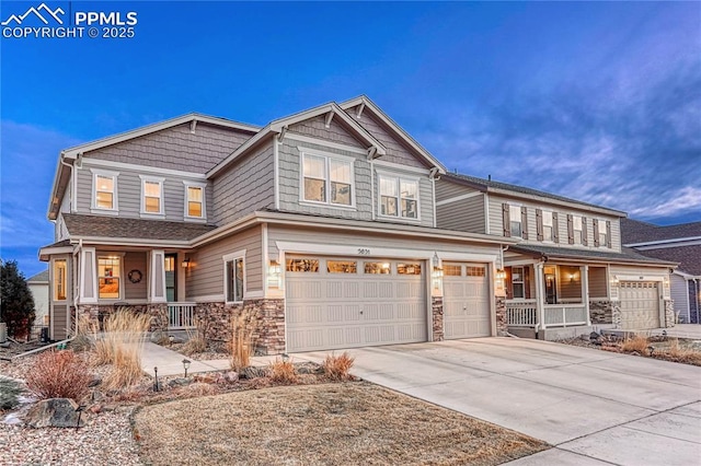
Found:
[(621, 328), (644, 330), (659, 327), (659, 295), (652, 281), (620, 283)]

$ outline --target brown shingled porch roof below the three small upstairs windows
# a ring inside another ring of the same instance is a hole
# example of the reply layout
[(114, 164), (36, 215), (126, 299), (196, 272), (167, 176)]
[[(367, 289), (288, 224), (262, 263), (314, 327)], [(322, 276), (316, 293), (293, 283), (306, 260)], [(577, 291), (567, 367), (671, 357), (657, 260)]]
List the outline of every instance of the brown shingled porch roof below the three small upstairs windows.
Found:
[(217, 228), (217, 225), (205, 223), (81, 215), (77, 213), (64, 213), (64, 221), (71, 236), (146, 241), (189, 241)]

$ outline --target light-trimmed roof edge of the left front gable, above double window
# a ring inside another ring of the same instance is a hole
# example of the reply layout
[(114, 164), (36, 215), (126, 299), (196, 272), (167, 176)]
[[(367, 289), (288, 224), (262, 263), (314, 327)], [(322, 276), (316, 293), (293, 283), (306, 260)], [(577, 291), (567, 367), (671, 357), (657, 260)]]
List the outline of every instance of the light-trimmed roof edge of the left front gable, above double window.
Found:
[(290, 125), (295, 125), (296, 123), (304, 121), (310, 118), (314, 118), (319, 115), (325, 115), (329, 113), (333, 113), (334, 117), (338, 117), (343, 120), (346, 128), (354, 133), (360, 141), (365, 142), (368, 148), (375, 148), (378, 154), (383, 155), (387, 153), (387, 149), (380, 141), (375, 139), (372, 135), (370, 135), (363, 126), (360, 126), (357, 121), (346, 114), (343, 108), (338, 106), (335, 102), (330, 102), (327, 104), (319, 105), (313, 108), (309, 108), (303, 112), (299, 112), (283, 118), (275, 119), (268, 123), (263, 129), (261, 129), (254, 137), (245, 141), (233, 151), (228, 158), (222, 160), (216, 166), (214, 166), (209, 172), (207, 172), (207, 177), (212, 177), (217, 173), (227, 168), (231, 163), (233, 163), (237, 159), (245, 154), (251, 148), (255, 147), (258, 142), (263, 141), (265, 138), (271, 135), (279, 135), (285, 133), (287, 131), (287, 127)]

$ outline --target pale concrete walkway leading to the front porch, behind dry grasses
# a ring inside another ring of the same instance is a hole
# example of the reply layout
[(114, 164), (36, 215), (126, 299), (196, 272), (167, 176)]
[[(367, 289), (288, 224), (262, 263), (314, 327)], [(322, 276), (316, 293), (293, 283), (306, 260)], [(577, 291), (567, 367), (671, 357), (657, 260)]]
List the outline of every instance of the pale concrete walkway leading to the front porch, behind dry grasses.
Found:
[[(264, 366), (274, 361), (276, 357), (265, 356), (251, 358), (251, 365)], [(191, 361), (187, 374), (197, 374), (203, 372), (227, 371), (229, 370), (228, 359), (216, 359), (210, 361), (195, 361), (179, 352), (170, 350), (151, 341), (143, 343), (143, 353), (141, 354), (141, 369), (143, 372), (153, 376), (153, 368), (158, 368), (158, 376), (166, 377), (172, 375), (185, 375), (183, 359)]]

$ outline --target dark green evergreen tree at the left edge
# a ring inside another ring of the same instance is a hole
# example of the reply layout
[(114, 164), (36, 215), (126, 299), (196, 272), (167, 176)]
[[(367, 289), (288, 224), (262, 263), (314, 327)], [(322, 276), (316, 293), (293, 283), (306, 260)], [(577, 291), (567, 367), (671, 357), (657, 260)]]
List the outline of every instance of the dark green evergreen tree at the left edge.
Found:
[(0, 321), (15, 338), (28, 335), (35, 317), (34, 298), (16, 260), (0, 259)]

